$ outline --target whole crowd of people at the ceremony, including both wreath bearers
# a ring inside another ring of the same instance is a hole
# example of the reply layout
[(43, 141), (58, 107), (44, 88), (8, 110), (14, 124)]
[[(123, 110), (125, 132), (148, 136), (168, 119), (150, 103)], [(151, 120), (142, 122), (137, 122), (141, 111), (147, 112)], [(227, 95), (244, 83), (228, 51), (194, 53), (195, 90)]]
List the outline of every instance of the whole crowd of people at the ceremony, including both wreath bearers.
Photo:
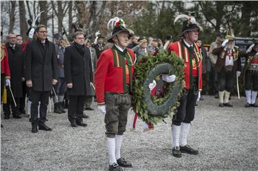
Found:
[[(159, 51), (176, 53), (185, 65), (185, 88), (172, 120), (174, 157), (182, 157), (181, 153), (198, 154), (198, 150), (187, 144), (187, 135), (196, 101), (202, 99), (201, 91), (207, 91), (209, 82), (214, 83), (218, 106), (232, 107), (229, 98), (233, 79), (243, 73), (246, 107), (258, 107), (255, 103), (258, 91), (257, 42), (247, 51), (239, 52), (233, 36), (224, 37), (218, 33), (207, 51), (198, 38), (200, 27), (191, 18), (183, 22), (182, 40), (173, 42), (172, 36), (166, 36), (164, 44), (159, 38), (133, 35), (120, 18), (112, 20), (115, 20), (115, 27), (111, 36), (106, 38), (107, 43), (99, 32), (91, 42), (80, 30), (73, 34), (73, 42), (60, 33), (54, 35), (54, 42), (50, 42), (45, 25), (30, 27), (26, 42), (21, 35), (8, 34), (6, 44), (1, 44), (4, 119), (10, 119), (11, 113), (17, 119), (21, 114), (27, 114), (32, 123), (32, 133), (37, 133), (38, 129), (51, 131), (45, 124), (50, 97), (54, 102), (54, 113), (67, 113), (71, 127), (86, 127), (83, 118), (89, 116), (84, 114), (84, 110), (94, 110), (91, 104), (96, 101), (97, 108), (105, 114), (109, 170), (122, 170), (120, 166), (132, 167), (132, 163), (121, 157), (120, 150), (131, 107), (134, 65), (141, 57), (155, 56)], [(243, 72), (240, 55), (246, 57)], [(211, 73), (215, 76), (213, 80), (207, 77)], [(161, 78), (171, 83), (176, 75), (162, 75)], [(152, 81), (150, 91), (155, 87), (156, 82)], [(152, 95), (155, 96), (155, 92)], [(132, 130), (136, 120), (137, 114), (134, 113)], [(143, 131), (151, 129), (154, 129), (152, 124), (143, 122)]]

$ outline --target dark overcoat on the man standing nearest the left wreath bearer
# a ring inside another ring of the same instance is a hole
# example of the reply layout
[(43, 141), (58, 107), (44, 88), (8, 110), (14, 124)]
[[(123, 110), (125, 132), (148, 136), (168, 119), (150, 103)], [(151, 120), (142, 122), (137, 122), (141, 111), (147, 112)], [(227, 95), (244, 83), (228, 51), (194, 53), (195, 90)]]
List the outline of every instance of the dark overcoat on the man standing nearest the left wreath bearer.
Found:
[(75, 44), (65, 49), (65, 79), (73, 83), (67, 88), (69, 95), (90, 95), (90, 82), (93, 82), (93, 69), (89, 48), (84, 47), (84, 54), (78, 51)]

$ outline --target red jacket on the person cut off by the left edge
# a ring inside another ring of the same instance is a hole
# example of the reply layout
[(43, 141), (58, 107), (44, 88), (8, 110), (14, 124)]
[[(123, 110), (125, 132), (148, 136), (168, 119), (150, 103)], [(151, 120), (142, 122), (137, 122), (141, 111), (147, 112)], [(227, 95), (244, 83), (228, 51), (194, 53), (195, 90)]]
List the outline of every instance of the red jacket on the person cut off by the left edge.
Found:
[(1, 44), (1, 74), (5, 75), (5, 78), (10, 79), (10, 68), (8, 63), (8, 52), (5, 44)]

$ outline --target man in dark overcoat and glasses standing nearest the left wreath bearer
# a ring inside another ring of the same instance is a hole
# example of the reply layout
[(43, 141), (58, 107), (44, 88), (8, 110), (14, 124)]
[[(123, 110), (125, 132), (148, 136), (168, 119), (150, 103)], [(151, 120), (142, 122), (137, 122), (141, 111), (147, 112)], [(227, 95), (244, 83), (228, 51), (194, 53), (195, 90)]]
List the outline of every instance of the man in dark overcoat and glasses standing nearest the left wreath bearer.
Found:
[(73, 44), (65, 49), (65, 79), (69, 94), (68, 119), (71, 127), (87, 124), (83, 122), (84, 98), (89, 95), (93, 72), (91, 64), (91, 53), (84, 46), (84, 33), (75, 32)]

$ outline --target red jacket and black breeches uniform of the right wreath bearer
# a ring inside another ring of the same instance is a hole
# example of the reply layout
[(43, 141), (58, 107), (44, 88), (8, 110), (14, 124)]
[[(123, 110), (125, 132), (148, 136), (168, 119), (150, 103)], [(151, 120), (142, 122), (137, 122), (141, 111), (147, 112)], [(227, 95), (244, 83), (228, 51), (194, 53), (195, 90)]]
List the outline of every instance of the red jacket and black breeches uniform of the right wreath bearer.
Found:
[(181, 122), (190, 123), (194, 118), (195, 100), (193, 99), (196, 99), (198, 91), (202, 90), (202, 55), (198, 44), (193, 44), (191, 47), (184, 40), (170, 44), (168, 51), (183, 58), (185, 65), (185, 89), (178, 112), (173, 119), (173, 124), (179, 126)]

